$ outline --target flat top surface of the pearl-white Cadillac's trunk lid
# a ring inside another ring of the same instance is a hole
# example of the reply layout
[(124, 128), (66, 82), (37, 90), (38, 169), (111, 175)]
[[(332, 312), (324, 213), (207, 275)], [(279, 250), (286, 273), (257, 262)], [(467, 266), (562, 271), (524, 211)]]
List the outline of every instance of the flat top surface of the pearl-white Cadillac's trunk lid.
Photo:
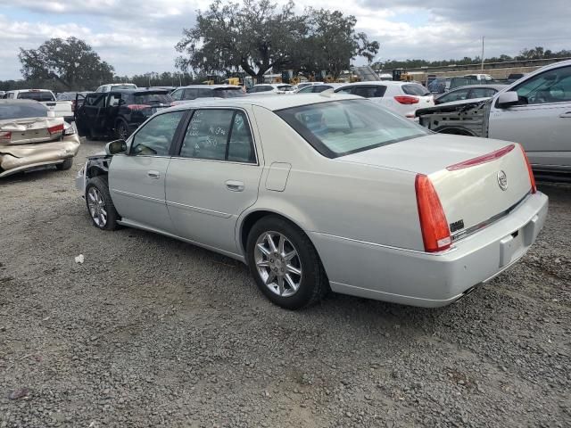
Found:
[(336, 161), (429, 175), (501, 149), (507, 144), (488, 138), (434, 134), (349, 154), (336, 158)]

